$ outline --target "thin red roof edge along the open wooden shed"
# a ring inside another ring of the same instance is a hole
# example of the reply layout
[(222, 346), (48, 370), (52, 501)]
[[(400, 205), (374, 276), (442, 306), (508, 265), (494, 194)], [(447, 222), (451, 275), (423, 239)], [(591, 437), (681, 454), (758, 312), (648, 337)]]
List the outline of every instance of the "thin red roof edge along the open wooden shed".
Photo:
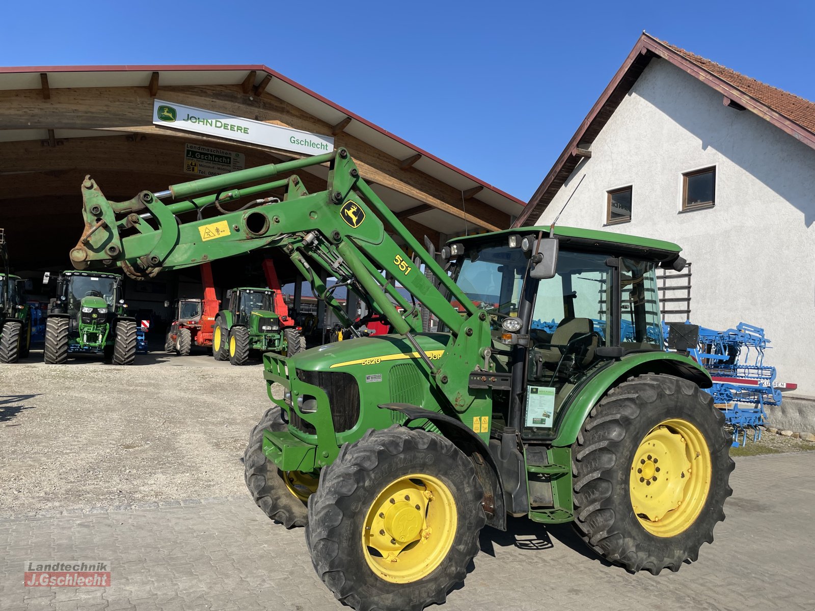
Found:
[(328, 104), (330, 107), (334, 108), (339, 112), (343, 112), (346, 116), (350, 116), (351, 119), (354, 121), (359, 121), (363, 125), (371, 128), (372, 130), (376, 130), (382, 135), (387, 136), (388, 138), (395, 140), (396, 142), (403, 144), (403, 146), (411, 148), (413, 151), (417, 153), (421, 153), (421, 156), (427, 157), (430, 160), (434, 160), (436, 163), (443, 165), (447, 169), (452, 169), (456, 174), (463, 176), (465, 178), (469, 178), (473, 182), (478, 183), (482, 187), (497, 193), (500, 196), (506, 197), (508, 200), (511, 200), (514, 204), (518, 204), (519, 206), (523, 206), (526, 202), (519, 200), (515, 196), (509, 195), (506, 191), (499, 189), (498, 187), (491, 185), (489, 182), (484, 182), (480, 178), (476, 178), (473, 174), (469, 174), (469, 172), (465, 172), (463, 169), (457, 168), (455, 165), (447, 163), (447, 161), (440, 159), (439, 157), (433, 155), (425, 151), (423, 148), (417, 147), (415, 144), (407, 142), (407, 140), (403, 138), (399, 138), (399, 136), (395, 134), (391, 134), (388, 130), (381, 128), (379, 125), (368, 121), (367, 119), (363, 119), (363, 117), (357, 115), (355, 112), (350, 112), (347, 108), (341, 107), (337, 103), (333, 103), (330, 99), (325, 98), (322, 95), (319, 95), (315, 91), (312, 91), (306, 86), (302, 86), (297, 81), (293, 81), (289, 77), (284, 77), (284, 75), (280, 74), (279, 72), (272, 70), (266, 65), (262, 64), (227, 64), (227, 65), (187, 65), (187, 66), (178, 66), (178, 65), (156, 65), (156, 66), (148, 66), (148, 65), (125, 65), (125, 66), (16, 66), (16, 67), (0, 67), (0, 74), (19, 74), (19, 73), (81, 73), (81, 72), (182, 72), (182, 71), (196, 71), (196, 72), (205, 72), (205, 71), (229, 71), (229, 70), (237, 70), (237, 71), (251, 71), (255, 70), (256, 72), (263, 72), (267, 73), (271, 77), (279, 78), (280, 81), (284, 81), (284, 83), (293, 86), (294, 88), (301, 90), (303, 93), (307, 95), (311, 95), (312, 98), (319, 99), (320, 102)]

